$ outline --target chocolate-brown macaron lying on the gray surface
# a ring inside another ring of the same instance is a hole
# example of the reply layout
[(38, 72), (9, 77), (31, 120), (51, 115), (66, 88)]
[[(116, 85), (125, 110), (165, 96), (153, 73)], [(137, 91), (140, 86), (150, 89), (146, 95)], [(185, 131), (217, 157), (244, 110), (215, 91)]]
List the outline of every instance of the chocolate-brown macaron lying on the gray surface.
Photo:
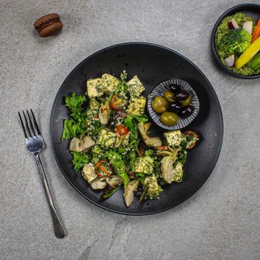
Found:
[(48, 37), (59, 32), (63, 28), (63, 23), (59, 14), (47, 14), (35, 21), (34, 28), (41, 37)]

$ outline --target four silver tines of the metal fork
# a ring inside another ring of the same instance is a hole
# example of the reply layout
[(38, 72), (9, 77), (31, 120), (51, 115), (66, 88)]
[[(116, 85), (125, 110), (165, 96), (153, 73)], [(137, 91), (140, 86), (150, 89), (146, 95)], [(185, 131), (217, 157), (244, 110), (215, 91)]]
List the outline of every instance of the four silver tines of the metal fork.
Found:
[[(37, 121), (34, 117), (34, 113), (32, 112), (32, 110), (30, 110), (30, 112), (28, 112), (28, 110), (26, 110), (26, 112), (27, 112), (27, 116), (26, 116), (26, 113), (23, 112), (23, 118), (21, 117), (20, 112), (18, 112), (25, 137), (28, 138), (28, 136), (35, 137), (37, 134), (40, 135), (41, 132), (39, 130)], [(23, 123), (24, 121), (25, 121), (25, 123)], [(29, 123), (28, 123), (28, 121), (29, 121)], [(36, 132), (37, 132), (37, 134), (36, 134)]]

